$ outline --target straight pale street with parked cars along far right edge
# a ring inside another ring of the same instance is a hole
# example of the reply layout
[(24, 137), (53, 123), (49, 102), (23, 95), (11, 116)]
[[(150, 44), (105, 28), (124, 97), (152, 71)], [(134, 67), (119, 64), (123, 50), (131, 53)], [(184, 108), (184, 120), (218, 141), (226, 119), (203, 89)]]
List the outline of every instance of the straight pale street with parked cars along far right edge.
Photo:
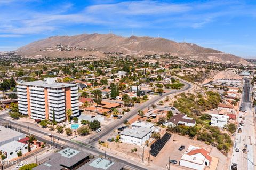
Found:
[[(252, 163), (254, 162), (254, 154), (255, 154), (255, 126), (254, 126), (254, 116), (253, 116), (253, 109), (252, 109), (252, 102), (250, 101), (250, 80), (244, 79), (244, 91), (242, 94), (242, 101), (241, 101), (241, 110), (247, 110), (247, 113), (240, 112), (238, 115), (237, 122), (241, 122), (240, 115), (245, 117), (244, 126), (239, 126), (238, 128), (242, 129), (242, 133), (236, 133), (236, 138), (234, 141), (234, 148), (231, 157), (231, 165), (233, 163), (237, 164), (237, 169), (247, 169), (253, 170), (254, 166)], [(243, 153), (242, 149), (245, 145), (248, 145), (249, 152), (247, 154)], [(235, 149), (239, 148), (240, 151), (236, 152)], [(231, 166), (230, 165), (230, 166)], [(231, 167), (230, 167), (231, 169)]]

